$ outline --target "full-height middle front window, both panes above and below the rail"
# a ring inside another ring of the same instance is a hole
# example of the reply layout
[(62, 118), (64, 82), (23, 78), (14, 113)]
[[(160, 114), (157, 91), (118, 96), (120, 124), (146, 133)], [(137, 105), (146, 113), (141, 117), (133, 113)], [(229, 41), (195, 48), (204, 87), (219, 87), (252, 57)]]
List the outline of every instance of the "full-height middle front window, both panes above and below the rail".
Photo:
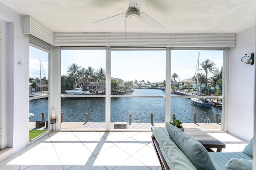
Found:
[(111, 128), (150, 129), (165, 122), (165, 49), (112, 49)]

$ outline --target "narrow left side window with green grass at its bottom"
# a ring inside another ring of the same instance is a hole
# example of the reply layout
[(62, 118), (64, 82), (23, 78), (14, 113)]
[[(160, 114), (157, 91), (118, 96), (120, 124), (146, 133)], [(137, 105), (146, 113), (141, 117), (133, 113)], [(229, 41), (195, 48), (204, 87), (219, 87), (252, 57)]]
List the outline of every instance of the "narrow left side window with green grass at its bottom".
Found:
[(49, 53), (32, 46), (29, 50), (29, 121), (32, 140), (48, 130)]

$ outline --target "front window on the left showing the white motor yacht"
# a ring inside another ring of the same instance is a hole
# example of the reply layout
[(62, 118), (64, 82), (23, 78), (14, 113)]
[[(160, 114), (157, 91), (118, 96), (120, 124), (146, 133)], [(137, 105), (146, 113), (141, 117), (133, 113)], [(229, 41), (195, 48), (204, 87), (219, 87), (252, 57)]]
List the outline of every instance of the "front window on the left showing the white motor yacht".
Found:
[(61, 50), (61, 128), (105, 128), (105, 80), (105, 49)]

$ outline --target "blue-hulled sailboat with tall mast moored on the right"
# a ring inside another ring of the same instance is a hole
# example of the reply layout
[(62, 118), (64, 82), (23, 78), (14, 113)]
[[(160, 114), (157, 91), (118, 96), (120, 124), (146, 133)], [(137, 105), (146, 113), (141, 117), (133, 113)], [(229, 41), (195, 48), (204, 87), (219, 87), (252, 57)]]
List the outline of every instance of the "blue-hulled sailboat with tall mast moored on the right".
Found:
[[(197, 64), (196, 64), (196, 69), (197, 69), (196, 95), (197, 96), (200, 96), (198, 93), (199, 56), (200, 56), (200, 52), (198, 53), (198, 59), (197, 59)], [(194, 76), (194, 83), (195, 83), (195, 78), (196, 78), (196, 73)], [(193, 88), (192, 88), (192, 91), (193, 91)], [(205, 98), (191, 98), (191, 103), (198, 105), (198, 106), (202, 106), (202, 107), (212, 107), (212, 103)]]

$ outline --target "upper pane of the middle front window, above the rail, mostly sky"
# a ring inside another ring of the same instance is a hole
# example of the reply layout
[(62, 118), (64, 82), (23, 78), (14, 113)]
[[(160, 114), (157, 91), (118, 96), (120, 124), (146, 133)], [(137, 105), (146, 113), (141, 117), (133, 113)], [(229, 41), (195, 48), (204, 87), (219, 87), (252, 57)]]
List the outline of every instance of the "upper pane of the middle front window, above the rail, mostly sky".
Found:
[(111, 51), (111, 94), (158, 95), (151, 89), (165, 89), (165, 63), (165, 50)]

